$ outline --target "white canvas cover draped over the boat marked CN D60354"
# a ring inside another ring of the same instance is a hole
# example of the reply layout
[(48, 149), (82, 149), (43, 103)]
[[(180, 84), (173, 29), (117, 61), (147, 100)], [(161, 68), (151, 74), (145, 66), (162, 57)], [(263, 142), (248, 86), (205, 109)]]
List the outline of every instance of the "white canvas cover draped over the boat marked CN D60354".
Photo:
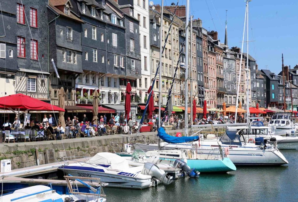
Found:
[(100, 166), (116, 170), (124, 170), (129, 168), (128, 162), (124, 158), (109, 152), (100, 152), (95, 154), (95, 156), (89, 159), (89, 161), (86, 161), (83, 166), (90, 166), (90, 164), (99, 164)]

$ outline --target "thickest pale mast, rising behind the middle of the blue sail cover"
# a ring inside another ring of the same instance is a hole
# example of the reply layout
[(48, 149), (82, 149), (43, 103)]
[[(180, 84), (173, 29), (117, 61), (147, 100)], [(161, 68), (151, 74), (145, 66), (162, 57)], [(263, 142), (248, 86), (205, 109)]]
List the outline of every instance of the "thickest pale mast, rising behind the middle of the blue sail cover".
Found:
[(189, 35), (189, 0), (186, 1), (186, 23), (185, 23), (185, 136), (188, 136), (188, 35)]

